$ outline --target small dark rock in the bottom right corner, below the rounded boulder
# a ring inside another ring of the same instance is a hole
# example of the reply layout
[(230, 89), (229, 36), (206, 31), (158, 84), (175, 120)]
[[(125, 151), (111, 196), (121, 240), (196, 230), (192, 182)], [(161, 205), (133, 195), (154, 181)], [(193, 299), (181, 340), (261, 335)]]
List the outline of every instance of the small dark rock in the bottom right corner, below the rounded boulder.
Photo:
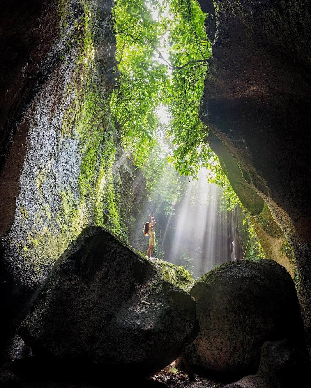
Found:
[(304, 386), (308, 379), (308, 353), (288, 341), (265, 342), (255, 375), (245, 376), (226, 388), (287, 388)]

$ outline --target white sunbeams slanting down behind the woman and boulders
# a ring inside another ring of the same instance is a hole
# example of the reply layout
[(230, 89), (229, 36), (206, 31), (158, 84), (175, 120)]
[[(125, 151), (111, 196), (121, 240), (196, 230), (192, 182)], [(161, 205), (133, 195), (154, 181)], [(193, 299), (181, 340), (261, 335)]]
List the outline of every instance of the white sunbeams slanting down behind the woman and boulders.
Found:
[[(148, 239), (142, 236), (142, 226), (151, 213), (157, 222), (154, 256), (184, 265), (195, 277), (215, 265), (241, 258), (238, 222), (242, 220), (238, 209), (227, 211), (223, 189), (208, 183), (207, 175), (208, 170), (202, 168), (199, 179), (188, 182), (166, 163), (161, 179), (150, 189), (148, 201), (136, 217), (130, 244), (146, 251)], [(169, 204), (168, 198), (172, 199)], [(168, 205), (170, 211), (165, 211)]]

